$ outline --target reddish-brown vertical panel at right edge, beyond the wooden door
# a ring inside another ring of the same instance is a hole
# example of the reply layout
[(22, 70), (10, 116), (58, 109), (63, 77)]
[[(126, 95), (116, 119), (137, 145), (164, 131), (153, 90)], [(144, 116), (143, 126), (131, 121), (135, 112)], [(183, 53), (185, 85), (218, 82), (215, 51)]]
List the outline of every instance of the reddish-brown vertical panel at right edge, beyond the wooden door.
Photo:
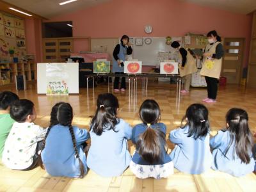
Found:
[(250, 42), (247, 86), (256, 88), (256, 11), (253, 13), (252, 38)]

